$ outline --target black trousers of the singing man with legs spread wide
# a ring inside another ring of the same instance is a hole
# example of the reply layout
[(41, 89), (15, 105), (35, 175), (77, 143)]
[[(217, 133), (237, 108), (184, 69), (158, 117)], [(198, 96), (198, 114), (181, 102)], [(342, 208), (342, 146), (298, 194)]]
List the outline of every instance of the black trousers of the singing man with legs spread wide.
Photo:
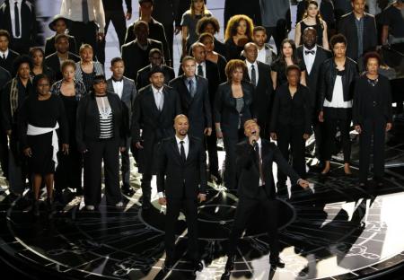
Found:
[(236, 213), (234, 215), (233, 229), (229, 236), (229, 247), (227, 249), (227, 256), (232, 258), (237, 249), (238, 239), (242, 236), (247, 222), (253, 218), (256, 207), (263, 207), (265, 216), (268, 217), (267, 221), (262, 221), (267, 224), (267, 231), (269, 237), (270, 259), (276, 260), (279, 257), (279, 238), (277, 232), (278, 220), (278, 206), (277, 199), (269, 198), (265, 192), (265, 186), (259, 188), (259, 196), (255, 199), (240, 197), (237, 205)]

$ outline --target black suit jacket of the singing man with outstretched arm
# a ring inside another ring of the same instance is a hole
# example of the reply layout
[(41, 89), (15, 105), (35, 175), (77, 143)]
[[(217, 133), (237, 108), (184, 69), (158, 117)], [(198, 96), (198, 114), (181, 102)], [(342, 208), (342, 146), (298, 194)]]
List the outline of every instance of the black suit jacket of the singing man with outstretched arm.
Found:
[[(236, 166), (239, 178), (238, 194), (240, 199), (259, 198), (259, 162), (252, 145), (247, 140), (236, 145)], [(285, 161), (276, 144), (261, 138), (262, 171), (265, 183), (265, 192), (270, 198), (276, 197), (273, 162), (277, 162), (277, 168), (290, 177), (292, 184), (297, 183), (299, 175)]]

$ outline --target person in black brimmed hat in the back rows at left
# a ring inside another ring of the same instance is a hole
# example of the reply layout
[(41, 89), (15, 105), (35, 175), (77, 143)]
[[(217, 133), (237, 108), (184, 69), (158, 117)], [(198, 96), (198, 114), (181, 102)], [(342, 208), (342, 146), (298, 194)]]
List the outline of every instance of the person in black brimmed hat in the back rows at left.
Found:
[[(57, 37), (57, 34), (66, 34), (66, 30), (68, 29), (70, 25), (70, 20), (64, 17), (63, 15), (57, 14), (53, 17), (52, 22), (49, 22), (49, 29), (51, 31), (55, 31), (56, 34), (53, 35), (52, 37), (47, 38), (45, 42), (45, 57), (48, 57), (49, 55), (53, 54), (56, 52), (55, 48), (55, 38)], [(67, 35), (67, 39), (69, 41), (69, 49), (71, 53), (77, 54), (77, 46), (75, 45), (75, 37)]]

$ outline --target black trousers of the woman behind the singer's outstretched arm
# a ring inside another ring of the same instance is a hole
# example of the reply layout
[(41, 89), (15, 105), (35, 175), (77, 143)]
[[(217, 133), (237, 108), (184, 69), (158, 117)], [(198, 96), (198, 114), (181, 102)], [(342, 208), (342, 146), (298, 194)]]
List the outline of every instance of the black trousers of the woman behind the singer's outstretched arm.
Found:
[[(289, 161), (289, 145), (292, 153), (292, 166), (301, 178), (306, 177), (306, 163), (304, 161), (305, 141), (303, 126), (283, 126), (277, 129), (277, 146), (286, 161)], [(277, 181), (284, 184), (286, 175), (277, 170)], [(292, 185), (294, 182), (292, 182)]]

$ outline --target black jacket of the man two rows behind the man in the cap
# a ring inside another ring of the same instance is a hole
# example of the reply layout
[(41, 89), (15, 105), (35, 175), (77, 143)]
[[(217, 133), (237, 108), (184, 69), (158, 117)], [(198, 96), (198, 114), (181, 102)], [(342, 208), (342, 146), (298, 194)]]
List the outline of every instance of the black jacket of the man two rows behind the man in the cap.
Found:
[(162, 42), (147, 39), (147, 48), (143, 50), (137, 45), (136, 39), (122, 46), (122, 59), (125, 62), (125, 76), (136, 81), (137, 71), (150, 64), (149, 52), (152, 48), (162, 51)]

